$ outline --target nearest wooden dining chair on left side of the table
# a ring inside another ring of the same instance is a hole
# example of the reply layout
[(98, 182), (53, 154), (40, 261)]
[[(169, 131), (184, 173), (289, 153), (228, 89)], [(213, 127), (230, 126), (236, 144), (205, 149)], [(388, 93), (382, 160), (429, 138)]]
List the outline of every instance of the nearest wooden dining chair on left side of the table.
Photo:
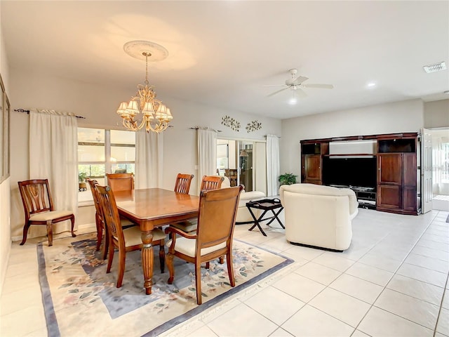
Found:
[[(123, 229), (120, 223), (119, 210), (117, 209), (114, 192), (109, 186), (95, 185), (100, 198), (102, 215), (107, 225), (107, 236), (109, 240), (109, 251), (106, 272), (111, 272), (112, 260), (114, 260), (114, 250), (119, 251), (119, 271), (117, 275), (117, 288), (121, 287), (123, 274), (125, 272), (126, 253), (142, 249), (142, 239), (140, 228), (137, 226)], [(161, 263), (161, 273), (165, 267), (165, 238), (166, 234), (159, 229), (152, 230), (152, 245), (159, 244), (159, 260)]]

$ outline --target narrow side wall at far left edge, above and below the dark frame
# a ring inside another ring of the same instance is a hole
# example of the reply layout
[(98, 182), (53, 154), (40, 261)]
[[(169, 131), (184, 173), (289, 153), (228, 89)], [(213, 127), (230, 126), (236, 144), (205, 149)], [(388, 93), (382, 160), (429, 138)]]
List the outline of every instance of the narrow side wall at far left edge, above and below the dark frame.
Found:
[[(1, 6), (0, 6), (1, 8)], [(1, 23), (1, 22), (0, 22)], [(9, 87), (9, 70), (8, 59), (6, 58), (6, 51), (3, 39), (3, 33), (0, 26), (0, 74), (3, 80), (5, 91), (8, 98)], [(1, 99), (1, 98), (0, 98)], [(1, 144), (1, 143), (0, 143)], [(8, 267), (9, 253), (11, 251), (11, 225), (10, 225), (10, 193), (9, 185), (11, 179), (8, 178), (0, 184), (0, 295), (3, 289), (4, 279), (6, 275), (6, 267)]]

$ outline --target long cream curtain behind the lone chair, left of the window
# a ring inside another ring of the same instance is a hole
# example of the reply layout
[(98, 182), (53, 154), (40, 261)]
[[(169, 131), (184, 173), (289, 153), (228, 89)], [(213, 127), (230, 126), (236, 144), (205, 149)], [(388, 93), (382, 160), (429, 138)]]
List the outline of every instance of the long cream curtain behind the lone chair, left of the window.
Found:
[[(29, 178), (48, 179), (55, 210), (78, 209), (78, 125), (74, 114), (54, 110), (29, 113)], [(70, 230), (70, 221), (53, 227), (54, 233)], [(46, 234), (45, 226), (32, 226), (30, 237)]]

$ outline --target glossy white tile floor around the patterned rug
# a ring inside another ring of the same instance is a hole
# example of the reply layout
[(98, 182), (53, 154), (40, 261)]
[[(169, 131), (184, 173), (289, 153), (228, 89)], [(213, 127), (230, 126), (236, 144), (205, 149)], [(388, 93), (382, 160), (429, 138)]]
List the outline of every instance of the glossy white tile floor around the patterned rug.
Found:
[[(237, 225), (237, 239), (295, 263), (163, 335), (449, 336), (447, 216), (360, 209), (343, 253), (290, 245), (280, 227), (267, 228), (264, 237)], [(36, 242), (11, 249), (0, 302), (2, 337), (47, 335)]]

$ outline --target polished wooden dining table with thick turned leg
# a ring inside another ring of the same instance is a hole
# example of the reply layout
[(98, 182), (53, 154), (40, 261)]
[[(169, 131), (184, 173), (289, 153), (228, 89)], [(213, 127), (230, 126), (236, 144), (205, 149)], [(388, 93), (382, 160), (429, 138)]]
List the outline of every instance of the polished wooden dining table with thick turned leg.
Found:
[(152, 293), (152, 230), (169, 223), (196, 218), (199, 197), (161, 188), (114, 192), (121, 216), (137, 223), (142, 231), (142, 269), (147, 295)]

